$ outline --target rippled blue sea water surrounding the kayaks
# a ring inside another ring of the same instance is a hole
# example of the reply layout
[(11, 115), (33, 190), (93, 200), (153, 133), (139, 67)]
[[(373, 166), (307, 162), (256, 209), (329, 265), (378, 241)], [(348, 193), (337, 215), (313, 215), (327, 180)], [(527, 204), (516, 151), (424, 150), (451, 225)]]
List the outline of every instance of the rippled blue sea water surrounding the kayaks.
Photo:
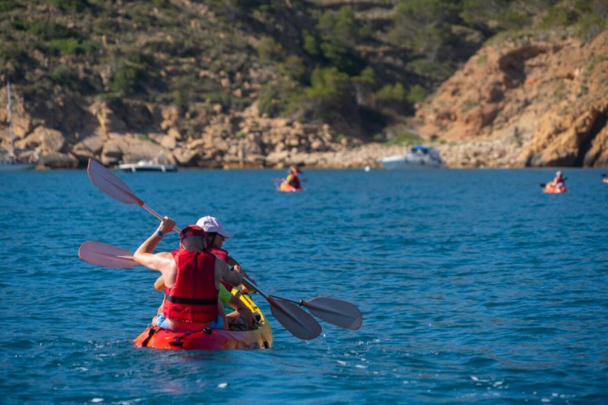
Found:
[[(78, 259), (158, 221), (85, 171), (0, 173), (0, 400), (38, 403), (608, 403), (608, 185), (567, 170), (117, 173), (178, 225), (219, 217), (270, 293), (359, 305), (271, 350), (136, 349), (157, 273)], [(160, 250), (176, 247), (165, 237)]]

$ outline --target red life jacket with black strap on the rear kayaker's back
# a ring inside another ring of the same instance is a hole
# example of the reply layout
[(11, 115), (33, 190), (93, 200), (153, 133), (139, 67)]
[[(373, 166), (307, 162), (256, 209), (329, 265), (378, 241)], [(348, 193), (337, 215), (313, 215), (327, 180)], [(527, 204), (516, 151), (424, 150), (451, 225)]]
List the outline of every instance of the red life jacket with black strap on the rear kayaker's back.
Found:
[(162, 313), (181, 322), (210, 322), (218, 318), (215, 256), (209, 252), (176, 249), (171, 252), (178, 273), (175, 285), (165, 287)]

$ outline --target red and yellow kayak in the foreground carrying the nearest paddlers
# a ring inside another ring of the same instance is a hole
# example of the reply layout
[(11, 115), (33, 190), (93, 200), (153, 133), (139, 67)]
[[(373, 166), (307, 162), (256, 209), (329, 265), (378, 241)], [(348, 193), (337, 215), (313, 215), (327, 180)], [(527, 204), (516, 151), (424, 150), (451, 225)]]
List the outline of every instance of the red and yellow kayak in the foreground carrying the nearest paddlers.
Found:
[[(235, 292), (232, 290), (232, 293)], [(241, 294), (240, 299), (254, 312), (254, 316), (260, 316), (257, 329), (236, 331), (204, 328), (195, 332), (176, 332), (153, 326), (137, 336), (134, 344), (136, 347), (168, 350), (270, 349), (272, 328), (268, 319), (247, 294)]]

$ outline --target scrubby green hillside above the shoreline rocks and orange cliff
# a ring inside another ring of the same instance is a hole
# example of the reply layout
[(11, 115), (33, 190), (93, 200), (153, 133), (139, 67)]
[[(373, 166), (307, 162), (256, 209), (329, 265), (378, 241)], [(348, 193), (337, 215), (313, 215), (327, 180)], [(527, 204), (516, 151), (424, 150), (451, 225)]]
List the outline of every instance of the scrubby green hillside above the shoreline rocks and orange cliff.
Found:
[(184, 113), (258, 101), (369, 140), (488, 39), (589, 40), (607, 21), (603, 0), (2, 0), (0, 75), (49, 109), (60, 95)]

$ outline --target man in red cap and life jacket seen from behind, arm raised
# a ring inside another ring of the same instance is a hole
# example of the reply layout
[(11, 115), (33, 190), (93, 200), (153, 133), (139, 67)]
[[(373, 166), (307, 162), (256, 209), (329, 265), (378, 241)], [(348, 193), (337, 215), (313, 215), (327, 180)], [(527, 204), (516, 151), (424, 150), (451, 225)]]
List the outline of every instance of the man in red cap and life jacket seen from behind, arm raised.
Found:
[(156, 325), (173, 330), (227, 328), (226, 313), (219, 302), (219, 281), (241, 284), (243, 274), (207, 250), (207, 234), (200, 226), (188, 225), (180, 233), (180, 248), (153, 253), (175, 222), (164, 217), (161, 225), (133, 254), (133, 259), (160, 271), (165, 284), (165, 302)]

